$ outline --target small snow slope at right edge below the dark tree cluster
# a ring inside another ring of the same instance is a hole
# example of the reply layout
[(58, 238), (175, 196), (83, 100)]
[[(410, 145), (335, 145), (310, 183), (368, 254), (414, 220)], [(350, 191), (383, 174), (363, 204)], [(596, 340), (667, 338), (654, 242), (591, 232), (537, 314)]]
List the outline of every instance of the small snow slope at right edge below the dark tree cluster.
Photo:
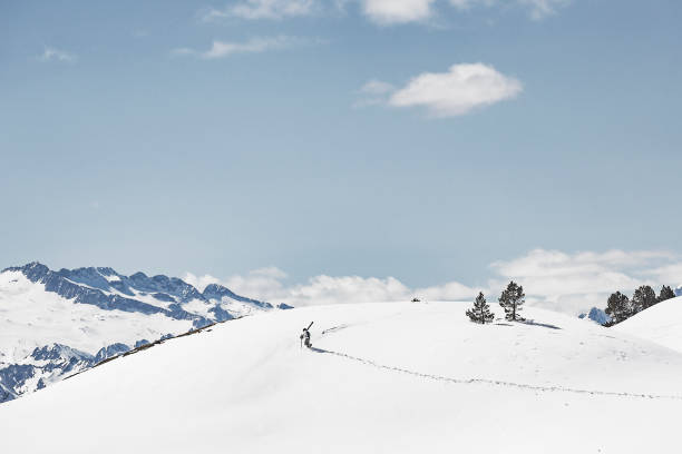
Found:
[(651, 306), (612, 329), (682, 352), (682, 296)]

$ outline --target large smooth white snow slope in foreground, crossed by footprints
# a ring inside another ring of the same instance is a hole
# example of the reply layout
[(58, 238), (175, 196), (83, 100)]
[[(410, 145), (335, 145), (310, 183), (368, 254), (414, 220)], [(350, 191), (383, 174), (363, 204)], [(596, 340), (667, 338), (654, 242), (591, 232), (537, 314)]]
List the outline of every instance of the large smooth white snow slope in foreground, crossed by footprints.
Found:
[[(0, 405), (2, 446), (679, 452), (682, 354), (534, 308), (534, 323), (475, 325), (466, 306), (319, 306), (230, 320)], [(301, 349), (311, 320), (315, 349)]]

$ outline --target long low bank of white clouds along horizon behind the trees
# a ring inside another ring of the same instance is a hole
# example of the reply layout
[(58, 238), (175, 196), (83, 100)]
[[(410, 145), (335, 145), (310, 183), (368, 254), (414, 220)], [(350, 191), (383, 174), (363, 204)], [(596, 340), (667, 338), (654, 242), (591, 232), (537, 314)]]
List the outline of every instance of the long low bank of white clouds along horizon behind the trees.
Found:
[(485, 286), (468, 286), (459, 282), (413, 288), (394, 277), (314, 276), (301, 284), (288, 284), (279, 268), (261, 268), (227, 279), (195, 276), (185, 280), (202, 289), (221, 283), (237, 294), (293, 306), (363, 302), (471, 300), (484, 292), (490, 304), (509, 280), (524, 286), (528, 304), (576, 315), (593, 306), (605, 307), (615, 290), (632, 293), (640, 285), (675, 286), (682, 284), (682, 260), (679, 256), (655, 250), (567, 254), (535, 249), (512, 260), (490, 265), (493, 277)]

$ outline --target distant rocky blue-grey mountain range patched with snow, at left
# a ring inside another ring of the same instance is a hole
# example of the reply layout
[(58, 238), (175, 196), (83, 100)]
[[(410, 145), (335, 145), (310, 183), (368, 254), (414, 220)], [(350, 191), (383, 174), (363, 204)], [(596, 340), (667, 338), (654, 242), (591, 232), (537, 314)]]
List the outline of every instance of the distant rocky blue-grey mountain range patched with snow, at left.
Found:
[(176, 277), (124, 276), (111, 268), (0, 273), (0, 402), (140, 345), (242, 315), (269, 303)]

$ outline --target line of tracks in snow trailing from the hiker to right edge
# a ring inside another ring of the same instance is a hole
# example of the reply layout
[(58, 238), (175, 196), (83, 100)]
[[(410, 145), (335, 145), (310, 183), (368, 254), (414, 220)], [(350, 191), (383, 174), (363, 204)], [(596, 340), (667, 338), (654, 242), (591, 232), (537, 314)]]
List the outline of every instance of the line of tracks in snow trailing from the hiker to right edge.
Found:
[(339, 352), (333, 352), (333, 351), (325, 351), (325, 349), (316, 348), (316, 347), (311, 347), (310, 349), (315, 352), (315, 353), (327, 353), (329, 355), (335, 355), (335, 356), (339, 356), (339, 357), (342, 357), (342, 358), (345, 358), (345, 359), (352, 359), (352, 361), (366, 364), (368, 366), (373, 366), (373, 367), (386, 369), (386, 371), (398, 372), (398, 373), (402, 373), (402, 374), (409, 374), (409, 375), (413, 375), (413, 376), (417, 376), (417, 377), (429, 378), (429, 379), (433, 379), (433, 381), (438, 381), (438, 382), (456, 383), (456, 384), (460, 384), (460, 385), (481, 384), (481, 385), (489, 385), (489, 386), (507, 386), (507, 387), (514, 387), (514, 388), (518, 388), (518, 389), (528, 389), (528, 391), (564, 392), (564, 393), (573, 393), (573, 394), (586, 394), (586, 395), (593, 395), (593, 396), (615, 396), (615, 397), (634, 397), (634, 398), (650, 398), (650, 399), (682, 401), (682, 396), (680, 396), (680, 395), (637, 394), (637, 393), (625, 393), (625, 392), (618, 393), (618, 392), (614, 392), (614, 391), (578, 389), (578, 388), (571, 388), (571, 387), (563, 387), (563, 386), (529, 385), (529, 384), (524, 384), (524, 383), (505, 382), (505, 381), (489, 379), (489, 378), (452, 378), (452, 377), (445, 377), (445, 376), (441, 376), (441, 375), (423, 374), (421, 372), (409, 371), (409, 369), (405, 369), (405, 368), (401, 368), (401, 367), (387, 366), (387, 365), (383, 365), (383, 364), (378, 364), (378, 363), (376, 363), (376, 362), (373, 362), (371, 359), (359, 358), (357, 356), (347, 355), (345, 353), (339, 353)]

